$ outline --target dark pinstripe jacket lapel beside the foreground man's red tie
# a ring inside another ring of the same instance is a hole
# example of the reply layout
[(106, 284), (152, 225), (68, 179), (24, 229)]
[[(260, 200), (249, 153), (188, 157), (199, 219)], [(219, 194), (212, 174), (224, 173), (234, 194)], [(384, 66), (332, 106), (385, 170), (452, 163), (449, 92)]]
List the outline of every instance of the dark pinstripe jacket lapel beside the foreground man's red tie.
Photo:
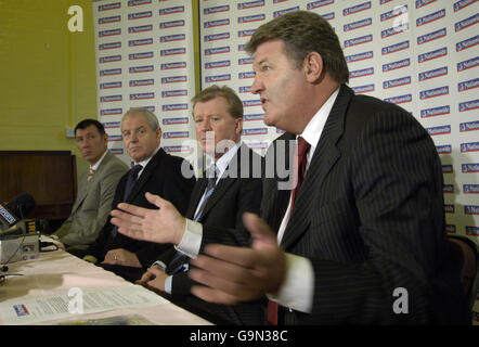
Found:
[(310, 217), (314, 214), (311, 210), (311, 206), (314, 206), (313, 201), (327, 172), (340, 157), (340, 151), (336, 144), (344, 133), (346, 111), (352, 95), (350, 88), (341, 86), (295, 201), (295, 207), (281, 242), (285, 249), (308, 230)]

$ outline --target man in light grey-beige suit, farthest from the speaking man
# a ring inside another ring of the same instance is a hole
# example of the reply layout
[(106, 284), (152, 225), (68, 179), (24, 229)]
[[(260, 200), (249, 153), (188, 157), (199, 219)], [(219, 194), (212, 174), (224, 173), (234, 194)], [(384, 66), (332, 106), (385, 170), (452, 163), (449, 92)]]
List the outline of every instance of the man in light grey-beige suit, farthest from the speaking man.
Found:
[(78, 123), (75, 139), (90, 168), (78, 180), (70, 216), (52, 236), (62, 242), (67, 252), (82, 257), (105, 224), (116, 185), (128, 166), (108, 151), (108, 134), (100, 121), (83, 119)]

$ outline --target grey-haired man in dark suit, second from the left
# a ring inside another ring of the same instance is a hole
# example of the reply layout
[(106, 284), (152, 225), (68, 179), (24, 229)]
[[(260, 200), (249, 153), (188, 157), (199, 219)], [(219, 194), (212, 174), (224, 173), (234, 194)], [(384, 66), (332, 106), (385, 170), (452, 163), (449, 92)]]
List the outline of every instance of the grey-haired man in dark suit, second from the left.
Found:
[[(119, 181), (112, 207), (127, 202), (154, 208), (145, 198), (145, 193), (151, 192), (168, 196), (178, 210), (184, 213), (195, 178), (184, 178), (182, 165), (190, 166), (159, 147), (161, 129), (156, 116), (145, 108), (130, 108), (121, 119), (121, 134), (125, 149), (135, 165)], [(106, 270), (134, 281), (170, 247), (171, 244), (159, 245), (125, 236), (108, 219), (83, 259), (100, 262)]]

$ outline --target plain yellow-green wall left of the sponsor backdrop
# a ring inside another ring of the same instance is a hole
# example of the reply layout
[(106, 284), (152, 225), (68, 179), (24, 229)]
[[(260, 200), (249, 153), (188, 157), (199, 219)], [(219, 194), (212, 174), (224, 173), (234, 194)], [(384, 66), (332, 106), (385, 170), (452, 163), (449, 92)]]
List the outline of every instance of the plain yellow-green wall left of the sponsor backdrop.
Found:
[(69, 150), (87, 168), (66, 128), (98, 117), (94, 51), (91, 0), (0, 0), (0, 150)]

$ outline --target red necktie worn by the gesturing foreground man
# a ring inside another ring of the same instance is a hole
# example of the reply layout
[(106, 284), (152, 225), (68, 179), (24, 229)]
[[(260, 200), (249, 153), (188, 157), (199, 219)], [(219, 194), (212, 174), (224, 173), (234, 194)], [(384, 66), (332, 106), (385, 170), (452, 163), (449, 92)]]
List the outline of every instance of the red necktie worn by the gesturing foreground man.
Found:
[[(310, 147), (311, 145), (303, 138), (298, 138), (298, 145), (296, 146), (295, 157), (293, 162), (293, 181), (296, 181), (296, 187), (294, 188), (292, 193), (293, 196), (290, 213), (293, 211), (295, 200), (298, 196), (302, 181), (305, 180), (306, 164), (308, 162), (307, 155)], [(268, 301), (268, 324), (277, 325), (277, 303), (271, 300)]]

